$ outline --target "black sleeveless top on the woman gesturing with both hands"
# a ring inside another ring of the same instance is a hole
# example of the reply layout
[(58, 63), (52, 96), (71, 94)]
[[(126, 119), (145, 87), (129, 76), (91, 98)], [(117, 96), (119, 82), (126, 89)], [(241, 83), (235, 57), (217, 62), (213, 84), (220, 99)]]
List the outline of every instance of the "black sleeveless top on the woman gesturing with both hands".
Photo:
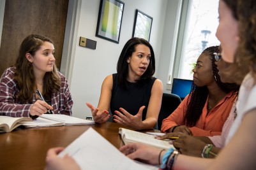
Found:
[(120, 111), (119, 108), (124, 108), (131, 115), (137, 115), (141, 106), (146, 106), (142, 113), (142, 120), (146, 119), (147, 106), (151, 96), (151, 89), (156, 78), (145, 80), (141, 82), (128, 83), (128, 89), (118, 85), (117, 74), (113, 76), (112, 97), (110, 102), (110, 110), (113, 115), (114, 111)]

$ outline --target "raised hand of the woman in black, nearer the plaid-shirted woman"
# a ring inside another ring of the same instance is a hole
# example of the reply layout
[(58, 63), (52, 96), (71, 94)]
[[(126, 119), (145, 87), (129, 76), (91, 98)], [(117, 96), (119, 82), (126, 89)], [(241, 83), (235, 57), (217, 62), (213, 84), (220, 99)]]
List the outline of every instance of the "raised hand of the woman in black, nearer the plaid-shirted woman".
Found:
[(107, 120), (110, 117), (109, 111), (107, 110), (100, 111), (98, 110), (98, 108), (94, 108), (93, 105), (91, 105), (91, 103), (86, 103), (86, 105), (88, 106), (88, 108), (91, 109), (91, 115), (93, 115), (93, 120), (95, 122), (99, 124), (103, 124), (107, 122)]

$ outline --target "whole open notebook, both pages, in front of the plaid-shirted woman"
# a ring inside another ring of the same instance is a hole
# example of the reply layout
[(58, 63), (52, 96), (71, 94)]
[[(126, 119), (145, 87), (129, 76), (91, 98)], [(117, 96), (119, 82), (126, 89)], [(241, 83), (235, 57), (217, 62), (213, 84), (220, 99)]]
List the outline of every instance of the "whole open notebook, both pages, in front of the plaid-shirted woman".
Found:
[(33, 120), (33, 122), (23, 123), (25, 127), (50, 127), (61, 125), (91, 125), (94, 124), (93, 120), (86, 120), (77, 117), (71, 117), (61, 114), (43, 114)]

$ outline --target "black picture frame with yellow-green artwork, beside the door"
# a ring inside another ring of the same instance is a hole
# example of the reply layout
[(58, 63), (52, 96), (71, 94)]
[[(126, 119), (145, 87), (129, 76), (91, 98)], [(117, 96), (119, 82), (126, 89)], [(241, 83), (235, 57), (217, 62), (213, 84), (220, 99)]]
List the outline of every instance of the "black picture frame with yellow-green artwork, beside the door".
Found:
[(101, 0), (96, 37), (119, 43), (124, 3), (119, 0)]

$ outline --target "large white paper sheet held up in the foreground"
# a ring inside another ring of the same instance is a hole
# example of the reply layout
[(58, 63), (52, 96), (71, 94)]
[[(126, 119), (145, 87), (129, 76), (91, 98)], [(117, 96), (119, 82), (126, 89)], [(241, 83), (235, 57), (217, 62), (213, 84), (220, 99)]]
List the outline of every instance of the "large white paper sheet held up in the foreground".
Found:
[(73, 157), (80, 168), (85, 170), (158, 169), (158, 167), (129, 159), (93, 128), (89, 128), (75, 139), (63, 152), (59, 153), (59, 157), (64, 157), (66, 154)]

